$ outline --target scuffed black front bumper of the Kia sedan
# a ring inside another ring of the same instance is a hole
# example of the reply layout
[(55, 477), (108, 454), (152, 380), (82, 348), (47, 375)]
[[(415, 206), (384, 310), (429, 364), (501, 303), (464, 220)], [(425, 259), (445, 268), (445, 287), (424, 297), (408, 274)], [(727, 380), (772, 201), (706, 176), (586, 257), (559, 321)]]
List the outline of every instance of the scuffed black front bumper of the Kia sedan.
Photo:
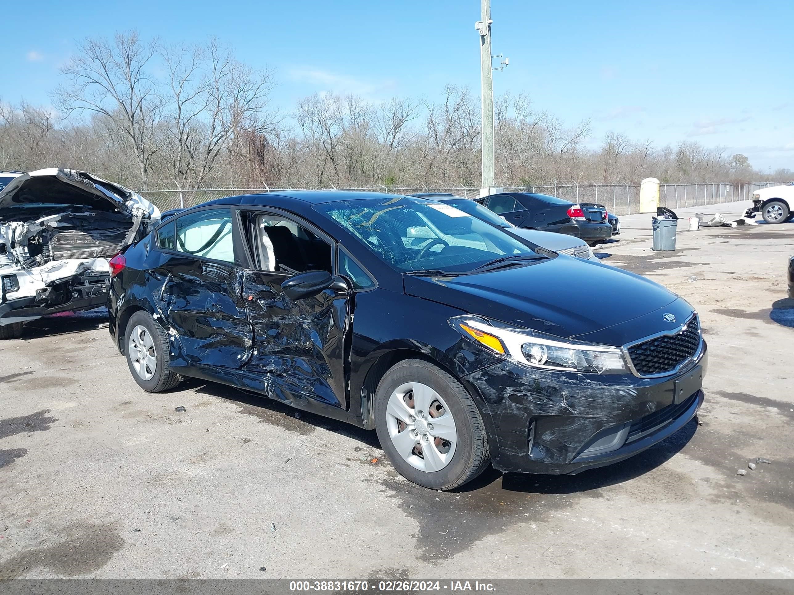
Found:
[(616, 463), (677, 432), (703, 403), (706, 368), (704, 342), (695, 362), (663, 378), (547, 372), (505, 361), (464, 380), (491, 417), (493, 466), (557, 475)]

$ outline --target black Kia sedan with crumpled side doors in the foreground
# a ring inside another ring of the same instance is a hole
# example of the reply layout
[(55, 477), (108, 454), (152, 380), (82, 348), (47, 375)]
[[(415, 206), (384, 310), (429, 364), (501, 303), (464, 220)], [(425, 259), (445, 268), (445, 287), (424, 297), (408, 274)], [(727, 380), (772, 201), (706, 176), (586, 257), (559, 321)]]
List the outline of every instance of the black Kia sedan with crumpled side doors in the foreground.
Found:
[(194, 376), (375, 429), (434, 489), (489, 463), (626, 459), (703, 402), (706, 344), (682, 298), (422, 198), (222, 198), (111, 267), (110, 334), (144, 390)]

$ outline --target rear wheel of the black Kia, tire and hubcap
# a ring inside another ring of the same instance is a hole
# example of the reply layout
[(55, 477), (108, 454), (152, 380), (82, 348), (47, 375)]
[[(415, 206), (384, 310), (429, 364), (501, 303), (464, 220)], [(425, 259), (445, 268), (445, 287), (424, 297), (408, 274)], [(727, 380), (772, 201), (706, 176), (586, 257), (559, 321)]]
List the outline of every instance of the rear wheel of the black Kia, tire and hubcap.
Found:
[(169, 361), (168, 335), (151, 314), (143, 310), (134, 313), (124, 335), (127, 366), (138, 386), (148, 393), (160, 393), (179, 384), (181, 378)]

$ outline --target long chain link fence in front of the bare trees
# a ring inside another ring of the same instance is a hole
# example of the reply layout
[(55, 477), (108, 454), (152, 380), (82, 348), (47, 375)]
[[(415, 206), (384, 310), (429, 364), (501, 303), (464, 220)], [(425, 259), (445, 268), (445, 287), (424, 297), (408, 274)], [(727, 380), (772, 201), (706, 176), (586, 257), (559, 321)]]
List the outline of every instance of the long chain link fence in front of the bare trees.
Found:
[[(780, 186), (792, 182), (707, 182), (693, 184), (661, 184), (659, 189), (662, 206), (683, 209), (716, 205), (721, 202), (750, 200), (753, 193), (766, 186)], [(445, 193), (465, 198), (477, 198), (480, 188), (471, 186), (445, 187), (395, 187), (370, 186), (362, 188), (202, 188), (197, 190), (142, 190), (141, 196), (157, 205), (160, 211), (187, 208), (202, 202), (237, 196), (240, 194), (262, 194), (279, 190), (348, 190), (360, 192), (384, 192), (389, 194)], [(505, 186), (505, 192), (537, 192), (565, 198), (571, 202), (595, 202), (604, 205), (613, 215), (631, 215), (640, 212), (639, 184), (555, 184), (551, 186)]]

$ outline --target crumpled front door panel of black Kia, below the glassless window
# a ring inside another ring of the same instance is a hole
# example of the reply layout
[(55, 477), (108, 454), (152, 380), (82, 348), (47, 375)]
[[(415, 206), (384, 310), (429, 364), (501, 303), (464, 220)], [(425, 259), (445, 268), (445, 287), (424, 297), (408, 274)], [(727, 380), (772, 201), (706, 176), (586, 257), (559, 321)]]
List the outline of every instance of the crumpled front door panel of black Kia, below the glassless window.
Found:
[(289, 277), (245, 272), (243, 295), (254, 344), (245, 371), (262, 374), (268, 396), (279, 401), (308, 398), (347, 409), (350, 300), (332, 290), (291, 300), (281, 290)]

